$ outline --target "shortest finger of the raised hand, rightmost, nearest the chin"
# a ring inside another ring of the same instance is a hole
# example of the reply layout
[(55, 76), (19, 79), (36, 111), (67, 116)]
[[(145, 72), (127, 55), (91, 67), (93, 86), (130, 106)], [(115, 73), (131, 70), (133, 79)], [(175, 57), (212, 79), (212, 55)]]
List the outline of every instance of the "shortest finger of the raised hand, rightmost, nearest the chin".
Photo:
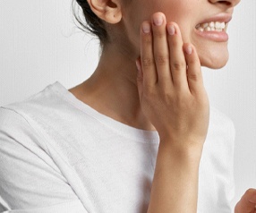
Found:
[(201, 63), (195, 47), (192, 44), (184, 44), (183, 51), (187, 64), (187, 81), (192, 94), (201, 93), (203, 89), (203, 79), (201, 73)]

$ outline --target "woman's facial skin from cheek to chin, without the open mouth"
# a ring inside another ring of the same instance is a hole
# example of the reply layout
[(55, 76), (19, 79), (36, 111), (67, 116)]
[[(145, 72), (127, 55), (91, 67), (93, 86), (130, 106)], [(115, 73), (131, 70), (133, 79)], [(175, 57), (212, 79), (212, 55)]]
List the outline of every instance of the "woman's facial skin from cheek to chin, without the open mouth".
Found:
[[(202, 39), (195, 33), (195, 26), (205, 19), (220, 13), (231, 15), (235, 4), (238, 2), (238, 0), (172, 0), (160, 2), (158, 0), (151, 0), (149, 4), (148, 0), (129, 1), (129, 4), (125, 4), (123, 15), (124, 28), (130, 32), (127, 41), (128, 43), (131, 42), (135, 47), (139, 47), (138, 29), (141, 22), (149, 20), (152, 13), (160, 11), (166, 14), (167, 21), (175, 21), (179, 24), (183, 42), (192, 43), (196, 47), (201, 65), (208, 66), (209, 68), (220, 68), (226, 64), (228, 59), (227, 42)], [(126, 7), (128, 8), (126, 9)], [(141, 13), (141, 8), (143, 8), (143, 13)], [(138, 48), (134, 51), (138, 52)]]

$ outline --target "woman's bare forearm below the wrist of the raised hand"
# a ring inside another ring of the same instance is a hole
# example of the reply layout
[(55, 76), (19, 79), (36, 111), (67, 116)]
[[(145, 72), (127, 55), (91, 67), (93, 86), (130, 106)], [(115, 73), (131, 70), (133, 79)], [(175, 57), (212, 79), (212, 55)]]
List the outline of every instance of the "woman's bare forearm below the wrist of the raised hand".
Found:
[(201, 149), (160, 143), (148, 213), (197, 212)]

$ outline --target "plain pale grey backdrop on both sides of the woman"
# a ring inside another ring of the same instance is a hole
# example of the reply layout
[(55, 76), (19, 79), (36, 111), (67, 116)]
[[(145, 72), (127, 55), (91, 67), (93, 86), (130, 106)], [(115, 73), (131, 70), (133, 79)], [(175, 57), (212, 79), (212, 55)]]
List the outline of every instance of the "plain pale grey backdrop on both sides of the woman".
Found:
[[(70, 89), (93, 72), (98, 40), (77, 29), (71, 4), (0, 1), (0, 106), (28, 98), (55, 81)], [(215, 71), (203, 68), (211, 105), (235, 123), (234, 203), (246, 189), (256, 188), (255, 11), (255, 0), (242, 0), (228, 28), (228, 64)]]

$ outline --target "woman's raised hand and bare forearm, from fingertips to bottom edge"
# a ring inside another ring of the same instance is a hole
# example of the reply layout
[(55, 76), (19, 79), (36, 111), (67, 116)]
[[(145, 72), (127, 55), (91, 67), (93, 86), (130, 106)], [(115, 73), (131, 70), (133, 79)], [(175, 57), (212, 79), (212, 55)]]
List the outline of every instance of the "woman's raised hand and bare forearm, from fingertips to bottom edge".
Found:
[(175, 22), (166, 24), (165, 15), (155, 13), (151, 22), (142, 23), (137, 66), (141, 108), (160, 137), (148, 213), (196, 212), (199, 163), (209, 125), (196, 50), (183, 45)]

